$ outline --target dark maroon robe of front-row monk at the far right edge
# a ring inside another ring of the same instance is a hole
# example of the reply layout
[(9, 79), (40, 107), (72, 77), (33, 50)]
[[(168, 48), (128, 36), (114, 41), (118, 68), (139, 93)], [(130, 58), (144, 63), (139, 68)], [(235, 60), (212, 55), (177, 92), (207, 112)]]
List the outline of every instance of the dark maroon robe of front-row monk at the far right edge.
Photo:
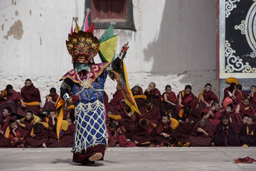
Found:
[[(253, 132), (253, 133), (252, 133)], [(241, 145), (256, 146), (256, 126), (244, 125), (240, 131), (240, 143)]]

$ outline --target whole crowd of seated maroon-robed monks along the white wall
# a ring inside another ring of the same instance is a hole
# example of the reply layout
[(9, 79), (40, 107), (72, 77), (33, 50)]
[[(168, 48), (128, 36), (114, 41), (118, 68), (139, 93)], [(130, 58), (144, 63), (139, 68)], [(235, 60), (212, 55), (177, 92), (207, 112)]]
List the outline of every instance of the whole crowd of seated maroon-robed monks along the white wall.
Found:
[[(106, 126), (110, 147), (154, 146), (256, 146), (256, 86), (250, 93), (237, 79), (230, 79), (223, 101), (206, 84), (199, 96), (186, 85), (177, 96), (166, 85), (161, 94), (151, 82), (144, 92), (132, 88), (139, 114), (124, 100), (122, 90), (109, 101), (105, 93)], [(233, 80), (233, 81), (232, 81)], [(72, 94), (70, 94), (72, 95)], [(21, 92), (9, 84), (0, 94), (0, 147), (72, 147), (74, 106), (66, 104), (59, 138), (51, 88), (42, 105), (39, 90), (26, 79)], [(221, 106), (221, 107), (220, 107)]]

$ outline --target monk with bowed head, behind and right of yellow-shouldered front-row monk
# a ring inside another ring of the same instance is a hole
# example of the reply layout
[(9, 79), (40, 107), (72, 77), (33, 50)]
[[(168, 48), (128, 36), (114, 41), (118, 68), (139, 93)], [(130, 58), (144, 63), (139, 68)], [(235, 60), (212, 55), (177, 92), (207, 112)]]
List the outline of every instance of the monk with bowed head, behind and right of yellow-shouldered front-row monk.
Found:
[(177, 117), (179, 122), (178, 127), (180, 128), (181, 137), (183, 137), (183, 140), (178, 140), (178, 142), (184, 143), (188, 141), (188, 137), (193, 131), (193, 126), (199, 119), (201, 119), (201, 115), (197, 109), (193, 109), (191, 106), (183, 106), (178, 112)]

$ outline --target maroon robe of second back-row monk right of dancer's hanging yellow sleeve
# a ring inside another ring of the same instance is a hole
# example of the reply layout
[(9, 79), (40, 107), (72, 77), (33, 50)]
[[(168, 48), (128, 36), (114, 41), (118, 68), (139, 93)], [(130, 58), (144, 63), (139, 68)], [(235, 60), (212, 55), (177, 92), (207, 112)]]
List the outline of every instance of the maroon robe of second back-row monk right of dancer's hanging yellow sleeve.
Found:
[(146, 96), (146, 99), (151, 99), (152, 104), (156, 106), (156, 109), (159, 111), (159, 114), (161, 114), (161, 92), (159, 89), (154, 89), (151, 92), (144, 92), (144, 95)]

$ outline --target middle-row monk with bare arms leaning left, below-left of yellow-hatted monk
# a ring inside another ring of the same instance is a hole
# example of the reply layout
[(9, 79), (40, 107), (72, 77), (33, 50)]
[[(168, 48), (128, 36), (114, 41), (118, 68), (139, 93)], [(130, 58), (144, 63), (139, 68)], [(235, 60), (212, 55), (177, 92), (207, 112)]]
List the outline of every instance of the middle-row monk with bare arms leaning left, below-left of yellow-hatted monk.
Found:
[(201, 116), (208, 119), (210, 121), (214, 128), (220, 123), (220, 118), (222, 116), (222, 113), (220, 111), (220, 104), (217, 101), (213, 101), (212, 105), (209, 107), (204, 108), (201, 110)]

